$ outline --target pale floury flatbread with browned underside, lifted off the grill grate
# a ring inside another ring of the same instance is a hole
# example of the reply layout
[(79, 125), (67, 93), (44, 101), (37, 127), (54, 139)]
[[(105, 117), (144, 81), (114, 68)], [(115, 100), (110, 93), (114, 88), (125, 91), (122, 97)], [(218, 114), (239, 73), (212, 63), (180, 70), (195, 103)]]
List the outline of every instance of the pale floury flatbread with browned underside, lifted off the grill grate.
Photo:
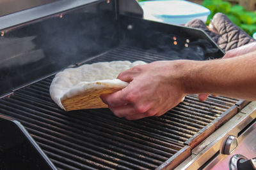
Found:
[(116, 79), (119, 73), (143, 61), (112, 61), (85, 64), (56, 74), (50, 86), (52, 100), (63, 110), (108, 108), (101, 94), (111, 94), (123, 89), (127, 82)]

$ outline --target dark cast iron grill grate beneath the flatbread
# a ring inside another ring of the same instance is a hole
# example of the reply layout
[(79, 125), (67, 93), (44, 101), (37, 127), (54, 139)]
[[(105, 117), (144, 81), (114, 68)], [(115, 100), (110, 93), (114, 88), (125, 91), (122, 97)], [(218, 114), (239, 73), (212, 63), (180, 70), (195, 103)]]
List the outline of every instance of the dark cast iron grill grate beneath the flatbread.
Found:
[[(121, 46), (86, 63), (168, 59), (159, 53)], [(52, 78), (0, 99), (0, 113), (19, 120), (59, 169), (156, 169), (185, 145), (196, 145), (191, 144), (195, 138), (214, 121), (231, 114), (238, 101), (209, 97), (200, 102), (189, 95), (161, 117), (128, 121), (108, 109), (60, 110), (49, 96)]]

